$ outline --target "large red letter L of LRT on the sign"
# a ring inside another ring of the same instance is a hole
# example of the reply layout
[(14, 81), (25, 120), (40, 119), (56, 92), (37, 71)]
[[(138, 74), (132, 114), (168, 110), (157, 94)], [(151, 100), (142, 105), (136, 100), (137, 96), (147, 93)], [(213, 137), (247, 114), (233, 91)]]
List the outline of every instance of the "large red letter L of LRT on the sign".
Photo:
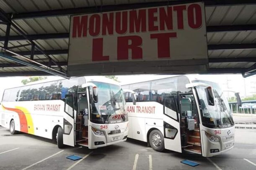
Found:
[(93, 38), (92, 61), (108, 61), (109, 56), (103, 55), (103, 38)]

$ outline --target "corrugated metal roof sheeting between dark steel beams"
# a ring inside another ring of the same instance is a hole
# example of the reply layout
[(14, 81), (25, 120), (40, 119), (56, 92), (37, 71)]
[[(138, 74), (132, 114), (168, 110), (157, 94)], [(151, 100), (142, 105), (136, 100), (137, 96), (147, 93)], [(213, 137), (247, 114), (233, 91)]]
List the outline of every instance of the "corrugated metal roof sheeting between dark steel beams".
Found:
[[(57, 10), (78, 7), (100, 7), (101, 5), (128, 4), (156, 2), (166, 0), (0, 0), (0, 8), (5, 13), (28, 13), (34, 11)], [(170, 0), (171, 1), (171, 0)], [(104, 7), (104, 6), (103, 6)], [(117, 9), (116, 9), (117, 10)], [(207, 26), (216, 25), (245, 25), (256, 24), (256, 4), (250, 5), (222, 5), (207, 6)], [(13, 21), (26, 34), (49, 34), (69, 32), (70, 16), (52, 16), (41, 18), (17, 19)], [(0, 25), (0, 36), (5, 36), (5, 25)], [(16, 30), (11, 29), (10, 35), (18, 35)], [(207, 40), (209, 45), (219, 44), (249, 44), (256, 43), (256, 30), (230, 31), (230, 32), (208, 32)], [(68, 49), (68, 38), (35, 40), (43, 50), (65, 50)], [(8, 46), (27, 44), (26, 40), (9, 41)], [(3, 46), (3, 42), (0, 42)], [(14, 51), (29, 51), (30, 46), (19, 47)], [(50, 55), (54, 61), (67, 61), (67, 54)], [(256, 49), (232, 49), (232, 50), (209, 50), (209, 58), (235, 58), (235, 57), (256, 57)], [(34, 55), (39, 62), (48, 62), (44, 55)], [(12, 63), (0, 58), (0, 63)], [(253, 62), (223, 62), (210, 63), (210, 68), (245, 68), (251, 67)], [(66, 66), (62, 66), (64, 70)], [(30, 67), (0, 68), (0, 72), (36, 71)]]

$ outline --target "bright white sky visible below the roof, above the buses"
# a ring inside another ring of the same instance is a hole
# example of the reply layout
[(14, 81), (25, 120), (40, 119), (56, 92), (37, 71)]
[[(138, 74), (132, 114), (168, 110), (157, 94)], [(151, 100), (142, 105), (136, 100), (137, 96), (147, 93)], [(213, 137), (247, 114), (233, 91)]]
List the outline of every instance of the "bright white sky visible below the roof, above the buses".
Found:
[[(117, 76), (121, 85), (130, 84), (134, 82), (142, 82), (147, 80), (155, 80), (173, 75), (122, 75)], [(222, 90), (230, 90), (240, 92), (241, 97), (251, 96), (256, 94), (256, 75), (243, 78), (240, 74), (229, 75), (192, 75), (200, 80), (208, 80), (217, 82)], [(26, 76), (21, 77), (0, 77), (0, 101), (2, 101), (3, 91), (6, 88), (22, 86), (21, 80), (28, 79)], [(47, 80), (62, 79), (57, 76), (47, 76)], [(225, 92), (227, 97), (234, 96), (233, 92)]]

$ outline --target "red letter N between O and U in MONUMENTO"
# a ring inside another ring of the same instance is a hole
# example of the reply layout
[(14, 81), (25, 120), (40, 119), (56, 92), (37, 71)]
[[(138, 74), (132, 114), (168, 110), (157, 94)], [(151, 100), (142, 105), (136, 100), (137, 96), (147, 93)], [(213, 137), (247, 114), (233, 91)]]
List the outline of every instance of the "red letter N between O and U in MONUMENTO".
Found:
[(108, 30), (109, 35), (113, 34), (114, 13), (109, 13), (109, 18), (107, 13), (104, 13), (102, 15), (102, 35), (106, 35), (106, 30)]

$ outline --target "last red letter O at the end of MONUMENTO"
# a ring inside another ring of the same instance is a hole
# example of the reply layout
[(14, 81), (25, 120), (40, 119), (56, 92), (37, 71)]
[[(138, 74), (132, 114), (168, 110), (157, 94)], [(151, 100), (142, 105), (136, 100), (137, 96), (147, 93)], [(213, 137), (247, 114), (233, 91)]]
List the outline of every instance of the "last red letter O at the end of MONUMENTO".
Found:
[[(194, 13), (195, 11), (195, 13)], [(195, 15), (194, 15), (195, 14)], [(188, 23), (189, 27), (197, 29), (202, 26), (202, 10), (200, 5), (191, 4), (188, 7)]]

